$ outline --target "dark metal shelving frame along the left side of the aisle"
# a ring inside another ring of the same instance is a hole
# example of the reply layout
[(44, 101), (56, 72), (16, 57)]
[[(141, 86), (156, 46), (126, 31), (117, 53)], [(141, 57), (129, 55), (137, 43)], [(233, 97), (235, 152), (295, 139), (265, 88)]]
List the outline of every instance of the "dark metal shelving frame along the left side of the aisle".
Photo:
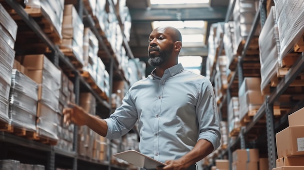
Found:
[[(75, 0), (76, 1), (76, 0)], [(5, 0), (5, 2), (16, 11), (22, 20), (31, 28), (32, 31), (50, 48), (51, 53), (51, 62), (58, 68), (62, 65), (65, 68), (68, 68), (68, 73), (72, 74), (73, 77), (70, 77), (74, 84), (74, 93), (75, 93), (75, 103), (79, 104), (79, 95), (80, 88), (83, 87), (87, 92), (90, 92), (94, 95), (97, 100), (97, 107), (99, 116), (102, 118), (107, 118), (112, 112), (111, 108), (111, 96), (109, 96), (109, 102), (101, 98), (101, 96), (96, 93), (91, 86), (85, 81), (84, 77), (81, 76), (79, 70), (77, 70), (73, 64), (69, 61), (68, 57), (65, 56), (59, 49), (58, 46), (54, 45), (46, 33), (39, 27), (36, 21), (28, 15), (24, 8), (17, 2), (17, 0)], [(112, 0), (109, 0), (110, 6), (114, 8)], [(105, 45), (103, 38), (98, 33), (94, 27), (94, 21), (88, 15), (87, 10), (84, 8), (83, 0), (77, 0), (78, 13), (81, 18), (83, 18), (84, 25), (90, 27), (92, 32), (96, 35), (99, 40), (100, 46), (103, 47), (103, 50), (106, 53), (106, 57), (110, 60), (110, 63), (106, 65), (107, 70), (110, 75), (110, 92), (112, 92), (112, 83), (113, 77), (118, 77), (119, 80), (125, 80), (123, 73), (119, 72), (118, 64), (115, 62), (114, 56), (111, 55), (108, 47)], [(131, 52), (131, 49), (128, 45), (126, 38), (124, 37), (123, 46), (126, 47), (128, 51), (129, 58), (134, 58)], [(64, 70), (65, 71), (65, 70)], [(115, 75), (116, 74), (116, 75)], [(0, 132), (0, 150), (3, 155), (3, 159), (16, 159), (24, 160), (27, 163), (40, 164), (44, 165), (46, 170), (55, 170), (55, 168), (66, 168), (66, 169), (86, 169), (86, 170), (125, 170), (125, 167), (119, 167), (117, 165), (112, 165), (109, 161), (96, 161), (86, 157), (79, 156), (77, 154), (77, 132), (78, 127), (75, 126), (74, 129), (74, 142), (73, 142), (73, 151), (68, 152), (62, 149), (57, 148), (56, 146), (51, 146), (48, 144), (43, 144), (31, 139), (26, 139), (19, 137), (10, 133)], [(0, 155), (0, 158), (2, 155)]]

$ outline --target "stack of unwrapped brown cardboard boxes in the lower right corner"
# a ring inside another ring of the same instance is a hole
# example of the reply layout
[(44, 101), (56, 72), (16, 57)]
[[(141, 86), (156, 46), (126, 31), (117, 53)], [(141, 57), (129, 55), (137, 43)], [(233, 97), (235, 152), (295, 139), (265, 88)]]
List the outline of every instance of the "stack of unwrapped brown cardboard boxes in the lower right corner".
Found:
[(276, 134), (278, 159), (273, 170), (304, 170), (304, 108), (288, 115), (289, 126)]

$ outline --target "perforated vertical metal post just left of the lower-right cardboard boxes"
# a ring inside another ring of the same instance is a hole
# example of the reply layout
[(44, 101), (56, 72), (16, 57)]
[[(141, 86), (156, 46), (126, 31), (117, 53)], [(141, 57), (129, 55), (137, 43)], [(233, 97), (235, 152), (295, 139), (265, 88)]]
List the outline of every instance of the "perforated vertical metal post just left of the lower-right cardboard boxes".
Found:
[(276, 167), (275, 166), (276, 142), (274, 137), (273, 104), (269, 103), (269, 96), (266, 97), (266, 129), (267, 129), (269, 170), (272, 170), (272, 168)]

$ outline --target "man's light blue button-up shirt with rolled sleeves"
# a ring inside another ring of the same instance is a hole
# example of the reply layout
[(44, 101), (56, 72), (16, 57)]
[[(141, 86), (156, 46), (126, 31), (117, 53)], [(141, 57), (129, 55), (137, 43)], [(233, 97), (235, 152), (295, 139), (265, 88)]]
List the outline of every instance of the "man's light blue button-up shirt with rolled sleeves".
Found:
[(175, 160), (206, 139), (220, 146), (220, 123), (211, 82), (177, 64), (155, 70), (129, 89), (122, 105), (105, 119), (106, 138), (126, 134), (138, 120), (139, 150), (158, 161)]

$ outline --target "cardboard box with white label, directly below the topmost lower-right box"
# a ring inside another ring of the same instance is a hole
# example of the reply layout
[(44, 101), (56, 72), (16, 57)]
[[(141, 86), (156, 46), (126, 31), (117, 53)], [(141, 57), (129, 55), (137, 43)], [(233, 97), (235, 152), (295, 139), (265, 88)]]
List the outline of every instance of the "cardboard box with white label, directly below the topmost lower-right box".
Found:
[(289, 126), (275, 135), (278, 158), (304, 155), (304, 126)]

